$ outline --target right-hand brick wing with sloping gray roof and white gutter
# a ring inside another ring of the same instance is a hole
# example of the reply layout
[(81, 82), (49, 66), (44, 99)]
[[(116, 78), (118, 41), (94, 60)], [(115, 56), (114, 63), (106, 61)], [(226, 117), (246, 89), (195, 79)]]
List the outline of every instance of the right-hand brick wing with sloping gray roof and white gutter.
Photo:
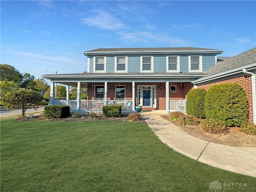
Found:
[(195, 88), (208, 90), (214, 84), (239, 83), (248, 98), (248, 119), (256, 124), (256, 48), (238, 54), (232, 58), (218, 58), (212, 68), (206, 70), (205, 75), (193, 81)]

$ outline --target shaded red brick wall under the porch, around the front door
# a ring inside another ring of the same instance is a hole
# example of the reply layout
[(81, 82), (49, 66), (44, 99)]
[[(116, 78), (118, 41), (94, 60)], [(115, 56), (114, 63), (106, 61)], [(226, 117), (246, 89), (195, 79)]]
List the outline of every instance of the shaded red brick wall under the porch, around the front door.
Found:
[[(88, 83), (87, 88), (87, 99), (94, 100), (94, 86), (95, 85), (104, 85), (104, 83)], [(125, 86), (125, 97), (126, 100), (132, 100), (132, 83), (120, 83), (121, 86)], [(165, 94), (165, 82), (160, 83), (135, 83), (135, 106), (137, 105), (137, 85), (156, 85), (156, 108), (143, 108), (142, 110), (166, 110), (166, 94)], [(177, 83), (169, 82), (169, 87), (175, 85), (177, 91), (171, 93), (169, 91), (169, 100), (180, 100), (186, 98), (186, 94), (193, 88), (193, 85), (190, 82)], [(119, 83), (108, 83), (108, 100), (116, 100), (116, 86), (119, 86)], [(161, 88), (160, 88), (161, 86)], [(170, 88), (169, 88), (170, 89)]]

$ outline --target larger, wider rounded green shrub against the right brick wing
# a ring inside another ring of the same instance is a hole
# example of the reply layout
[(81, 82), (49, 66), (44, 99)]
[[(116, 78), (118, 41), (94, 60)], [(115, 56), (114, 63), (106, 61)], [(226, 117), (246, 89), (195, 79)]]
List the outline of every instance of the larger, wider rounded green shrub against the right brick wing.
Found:
[(238, 83), (213, 85), (206, 92), (206, 118), (221, 120), (226, 126), (247, 122), (247, 96)]

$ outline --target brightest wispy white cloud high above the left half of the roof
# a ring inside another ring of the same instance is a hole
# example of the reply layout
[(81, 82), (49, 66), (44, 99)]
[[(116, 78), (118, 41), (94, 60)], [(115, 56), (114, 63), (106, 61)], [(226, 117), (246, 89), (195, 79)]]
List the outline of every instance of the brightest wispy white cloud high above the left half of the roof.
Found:
[(122, 22), (103, 10), (94, 10), (95, 14), (82, 19), (83, 24), (96, 26), (100, 29), (120, 30), (124, 27)]

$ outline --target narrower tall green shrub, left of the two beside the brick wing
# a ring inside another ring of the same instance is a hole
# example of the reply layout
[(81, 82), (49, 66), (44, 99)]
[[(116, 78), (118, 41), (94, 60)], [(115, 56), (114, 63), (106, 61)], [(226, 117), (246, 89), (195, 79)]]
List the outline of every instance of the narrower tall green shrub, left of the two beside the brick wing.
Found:
[(206, 90), (202, 88), (192, 89), (187, 94), (186, 113), (197, 118), (205, 118), (204, 100)]

